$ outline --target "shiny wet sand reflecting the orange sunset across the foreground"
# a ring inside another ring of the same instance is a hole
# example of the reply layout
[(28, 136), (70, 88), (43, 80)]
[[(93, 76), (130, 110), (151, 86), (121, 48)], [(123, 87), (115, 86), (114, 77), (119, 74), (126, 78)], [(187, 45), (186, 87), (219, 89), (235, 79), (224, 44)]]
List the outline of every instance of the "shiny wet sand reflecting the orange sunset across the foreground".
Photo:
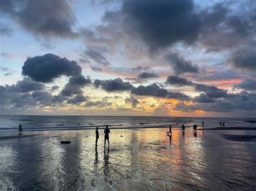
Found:
[(0, 190), (256, 189), (255, 131), (166, 131), (2, 131)]

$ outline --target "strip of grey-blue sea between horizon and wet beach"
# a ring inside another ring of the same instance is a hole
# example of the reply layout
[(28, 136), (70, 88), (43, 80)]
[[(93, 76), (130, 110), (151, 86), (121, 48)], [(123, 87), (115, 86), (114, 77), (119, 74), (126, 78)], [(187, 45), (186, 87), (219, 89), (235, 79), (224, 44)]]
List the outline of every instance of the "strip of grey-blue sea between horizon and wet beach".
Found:
[(23, 130), (62, 130), (62, 129), (95, 129), (96, 126), (104, 128), (109, 125), (111, 129), (125, 128), (163, 128), (169, 125), (198, 126), (204, 125), (220, 126), (220, 122), (225, 122), (225, 126), (250, 126), (255, 127), (255, 123), (244, 121), (256, 120), (256, 118), (232, 118), (232, 117), (148, 117), (148, 116), (0, 116), (0, 130), (17, 130), (22, 124)]

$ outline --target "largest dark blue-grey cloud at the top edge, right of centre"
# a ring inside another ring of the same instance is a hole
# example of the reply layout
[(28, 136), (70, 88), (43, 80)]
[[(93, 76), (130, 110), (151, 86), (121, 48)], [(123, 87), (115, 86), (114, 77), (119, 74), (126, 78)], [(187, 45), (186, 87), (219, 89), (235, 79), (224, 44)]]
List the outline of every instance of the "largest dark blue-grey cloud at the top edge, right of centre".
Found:
[(151, 49), (163, 48), (178, 41), (191, 44), (199, 35), (200, 19), (190, 0), (129, 0), (124, 1), (120, 12), (124, 15), (125, 30), (142, 38)]

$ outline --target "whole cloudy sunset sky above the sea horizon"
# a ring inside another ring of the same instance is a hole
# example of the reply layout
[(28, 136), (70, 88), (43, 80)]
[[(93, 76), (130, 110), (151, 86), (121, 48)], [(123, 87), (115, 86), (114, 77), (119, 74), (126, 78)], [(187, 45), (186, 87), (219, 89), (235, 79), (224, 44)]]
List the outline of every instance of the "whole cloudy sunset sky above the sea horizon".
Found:
[(0, 115), (256, 117), (256, 2), (2, 0)]

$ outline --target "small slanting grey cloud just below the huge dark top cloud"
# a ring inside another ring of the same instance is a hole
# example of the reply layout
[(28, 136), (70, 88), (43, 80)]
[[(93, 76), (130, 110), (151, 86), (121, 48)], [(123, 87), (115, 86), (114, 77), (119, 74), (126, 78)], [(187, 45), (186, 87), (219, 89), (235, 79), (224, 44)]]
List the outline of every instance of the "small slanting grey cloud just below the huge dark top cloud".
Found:
[(170, 66), (173, 68), (176, 74), (183, 73), (198, 73), (199, 67), (192, 65), (191, 61), (185, 60), (178, 53), (169, 53), (164, 56), (165, 60), (170, 63)]

